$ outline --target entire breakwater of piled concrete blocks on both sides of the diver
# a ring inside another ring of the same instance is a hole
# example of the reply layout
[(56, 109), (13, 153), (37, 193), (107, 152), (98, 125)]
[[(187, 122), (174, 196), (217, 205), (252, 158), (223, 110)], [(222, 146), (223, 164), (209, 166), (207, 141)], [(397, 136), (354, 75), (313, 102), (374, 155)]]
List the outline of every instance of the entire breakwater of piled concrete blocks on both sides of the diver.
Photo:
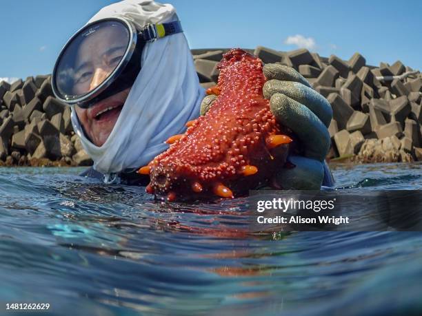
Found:
[[(217, 64), (228, 48), (194, 49), (201, 85), (217, 83)], [(422, 74), (396, 61), (367, 65), (305, 49), (245, 49), (264, 63), (300, 72), (332, 105), (330, 160), (397, 162), (422, 160)], [(92, 160), (72, 130), (70, 109), (54, 98), (50, 76), (0, 82), (0, 165), (80, 166)]]

